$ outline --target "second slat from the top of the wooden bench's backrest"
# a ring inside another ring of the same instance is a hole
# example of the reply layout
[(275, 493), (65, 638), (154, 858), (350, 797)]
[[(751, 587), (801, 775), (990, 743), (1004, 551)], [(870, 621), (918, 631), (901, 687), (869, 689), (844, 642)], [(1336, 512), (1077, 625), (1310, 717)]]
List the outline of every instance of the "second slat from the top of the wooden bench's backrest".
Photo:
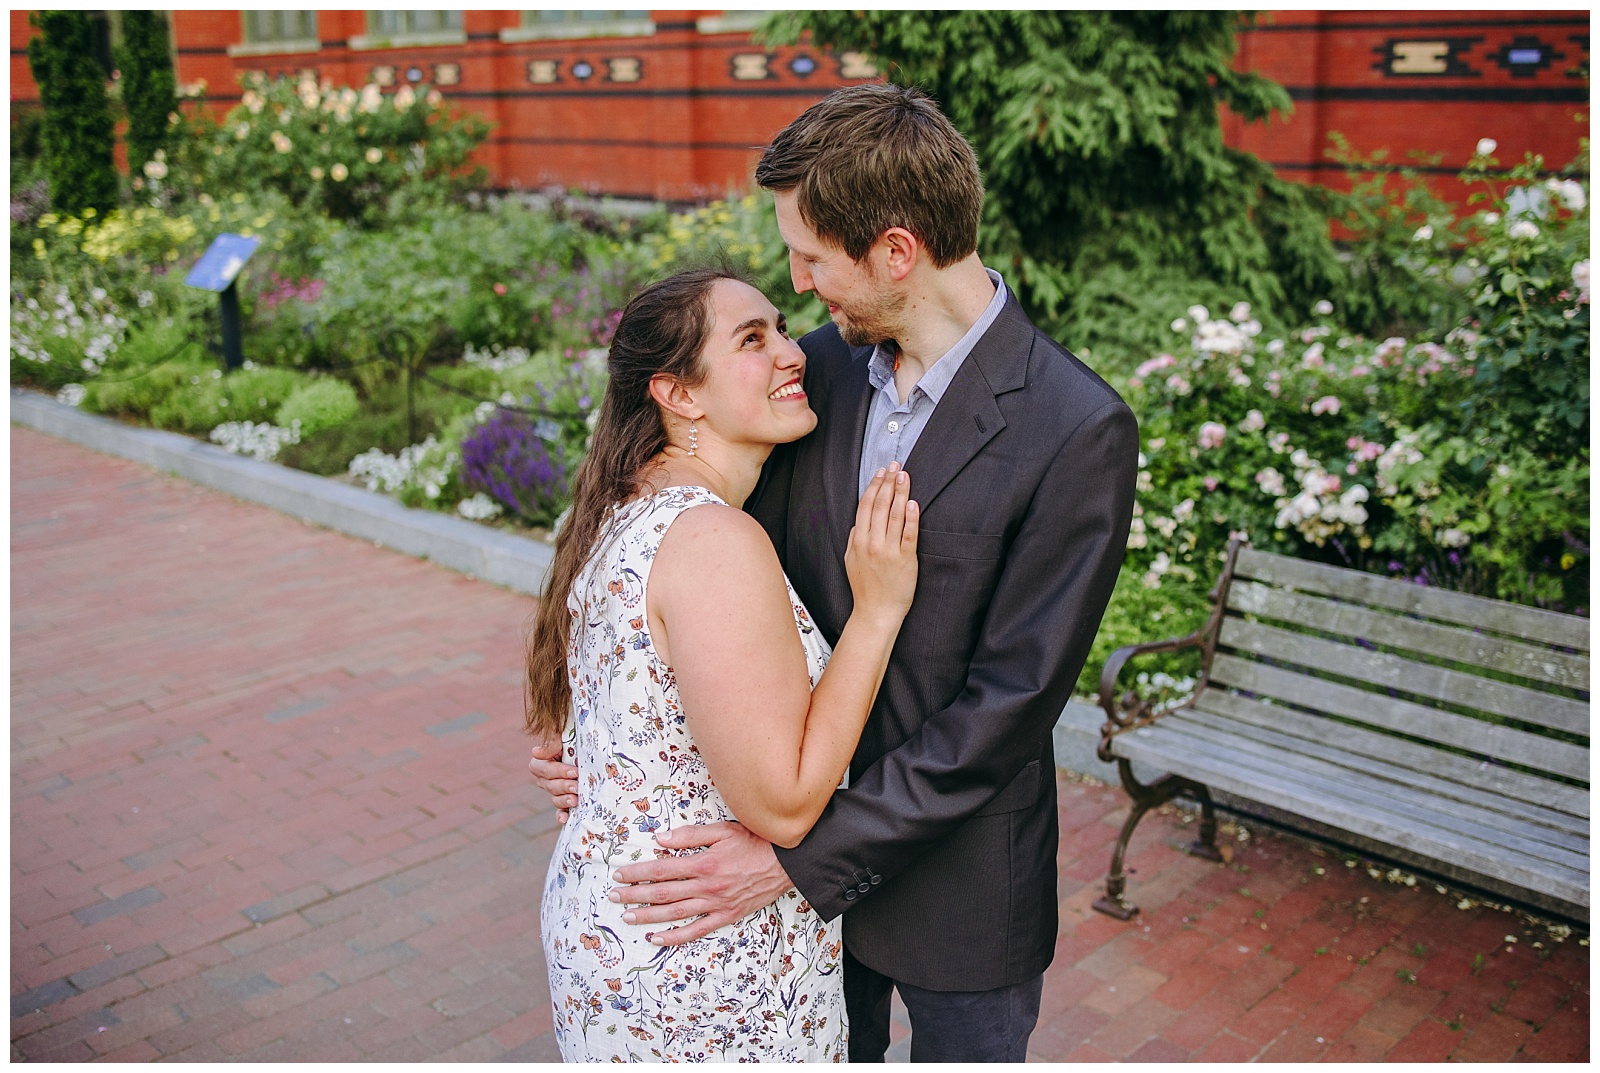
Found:
[(1405, 619), (1320, 596), (1270, 588), (1259, 582), (1234, 582), (1227, 592), (1234, 611), (1283, 619), (1328, 633), (1346, 633), (1376, 644), (1440, 656), (1461, 664), (1490, 667), (1522, 678), (1538, 678), (1570, 689), (1589, 689), (1589, 657), (1507, 641), (1419, 619)]

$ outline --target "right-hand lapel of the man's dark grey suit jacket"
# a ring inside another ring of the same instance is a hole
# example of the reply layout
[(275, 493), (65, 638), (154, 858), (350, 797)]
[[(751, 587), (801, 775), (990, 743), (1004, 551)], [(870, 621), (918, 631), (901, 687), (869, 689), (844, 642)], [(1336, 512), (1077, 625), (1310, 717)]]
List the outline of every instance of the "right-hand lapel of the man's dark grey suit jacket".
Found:
[[(923, 512), (973, 456), (1005, 429), (995, 397), (1027, 382), (1032, 347), (1034, 328), (1011, 296), (995, 323), (966, 355), (906, 459), (910, 494)], [(856, 457), (859, 461), (859, 445)]]

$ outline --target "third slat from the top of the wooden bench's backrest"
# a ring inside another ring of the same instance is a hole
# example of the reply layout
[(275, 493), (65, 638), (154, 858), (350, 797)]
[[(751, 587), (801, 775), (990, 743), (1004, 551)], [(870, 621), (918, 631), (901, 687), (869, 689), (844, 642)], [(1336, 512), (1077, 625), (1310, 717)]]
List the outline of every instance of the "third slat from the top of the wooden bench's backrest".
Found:
[(1325, 641), (1245, 619), (1226, 619), (1219, 643), (1222, 648), (1237, 648), (1344, 678), (1504, 715), (1523, 723), (1536, 723), (1570, 734), (1589, 734), (1589, 704), (1586, 700), (1554, 697), (1538, 689), (1477, 678), (1459, 670), (1419, 664), (1414, 659), (1389, 652), (1373, 652), (1354, 644)]

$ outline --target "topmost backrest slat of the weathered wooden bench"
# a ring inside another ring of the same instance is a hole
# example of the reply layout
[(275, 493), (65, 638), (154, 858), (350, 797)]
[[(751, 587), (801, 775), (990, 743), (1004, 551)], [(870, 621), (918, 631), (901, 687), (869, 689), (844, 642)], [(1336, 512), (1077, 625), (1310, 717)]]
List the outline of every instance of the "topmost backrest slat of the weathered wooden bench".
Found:
[(1579, 652), (1589, 651), (1589, 619), (1571, 614), (1413, 585), (1392, 577), (1285, 558), (1254, 548), (1238, 550), (1234, 576), (1254, 577), (1275, 585), (1339, 596), (1392, 611), (1410, 611), (1456, 625), (1482, 627), (1496, 633), (1560, 644)]

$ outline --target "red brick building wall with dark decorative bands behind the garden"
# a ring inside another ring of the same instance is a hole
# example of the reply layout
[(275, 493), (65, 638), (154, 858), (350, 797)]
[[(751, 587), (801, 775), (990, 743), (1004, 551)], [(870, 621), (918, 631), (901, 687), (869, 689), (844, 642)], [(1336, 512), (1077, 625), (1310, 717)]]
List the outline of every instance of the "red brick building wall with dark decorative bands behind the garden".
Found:
[[(856, 56), (707, 32), (718, 14), (651, 11), (645, 35), (506, 40), (518, 37), (518, 11), (466, 11), (451, 43), (370, 48), (366, 11), (318, 11), (314, 51), (256, 54), (238, 48), (238, 11), (171, 19), (179, 82), (203, 80), (219, 107), (238, 99), (246, 70), (426, 82), (493, 123), (480, 162), (496, 185), (686, 201), (746, 187), (773, 131), (870, 77)], [(29, 34), (27, 13), (11, 11), (13, 102), (37, 101)], [(1341, 184), (1330, 131), (1360, 154), (1387, 149), (1390, 163), (1442, 154), (1440, 176), (1478, 138), (1494, 138), (1502, 162), (1531, 150), (1560, 168), (1587, 131), (1574, 122), (1589, 109), (1586, 11), (1272, 11), (1240, 34), (1237, 66), (1286, 86), (1294, 115), (1267, 125), (1224, 115), (1229, 144), (1298, 181)]]

